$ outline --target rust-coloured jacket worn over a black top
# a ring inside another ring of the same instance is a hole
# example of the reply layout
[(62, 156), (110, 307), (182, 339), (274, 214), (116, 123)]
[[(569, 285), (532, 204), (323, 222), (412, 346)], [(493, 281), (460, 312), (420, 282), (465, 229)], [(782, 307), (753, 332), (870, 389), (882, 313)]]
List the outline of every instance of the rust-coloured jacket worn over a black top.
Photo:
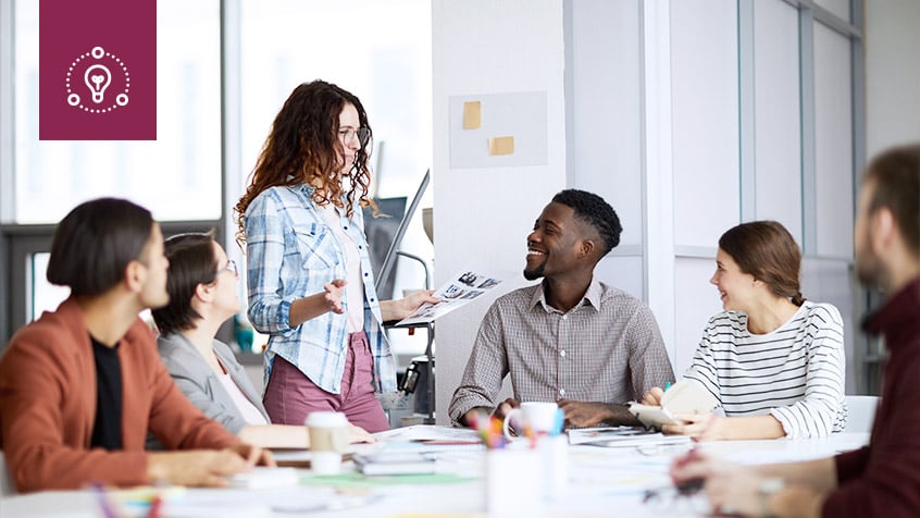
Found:
[(0, 440), (17, 491), (148, 483), (148, 430), (169, 449), (239, 442), (179, 392), (140, 319), (121, 340), (119, 360), (123, 449), (90, 449), (96, 361), (79, 306), (69, 298), (13, 335), (0, 357)]

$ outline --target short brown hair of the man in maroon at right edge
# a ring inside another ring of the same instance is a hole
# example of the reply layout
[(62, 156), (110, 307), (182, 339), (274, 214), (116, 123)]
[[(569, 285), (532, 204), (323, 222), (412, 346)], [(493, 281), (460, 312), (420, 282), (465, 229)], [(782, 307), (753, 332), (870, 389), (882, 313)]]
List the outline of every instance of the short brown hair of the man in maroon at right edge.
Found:
[(888, 149), (866, 170), (866, 183), (875, 189), (869, 213), (886, 207), (910, 251), (920, 257), (920, 144)]

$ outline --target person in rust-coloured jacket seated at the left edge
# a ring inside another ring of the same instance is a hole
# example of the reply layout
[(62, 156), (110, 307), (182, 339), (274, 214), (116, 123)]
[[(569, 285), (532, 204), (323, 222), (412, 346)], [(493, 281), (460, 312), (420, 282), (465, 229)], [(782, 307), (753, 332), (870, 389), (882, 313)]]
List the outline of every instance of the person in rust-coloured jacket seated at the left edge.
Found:
[[(17, 491), (220, 485), (274, 464), (204, 417), (160, 361), (138, 313), (169, 301), (169, 264), (160, 226), (129, 201), (87, 201), (58, 225), (48, 281), (71, 296), (0, 358), (0, 444)], [(187, 452), (146, 453), (148, 430)]]

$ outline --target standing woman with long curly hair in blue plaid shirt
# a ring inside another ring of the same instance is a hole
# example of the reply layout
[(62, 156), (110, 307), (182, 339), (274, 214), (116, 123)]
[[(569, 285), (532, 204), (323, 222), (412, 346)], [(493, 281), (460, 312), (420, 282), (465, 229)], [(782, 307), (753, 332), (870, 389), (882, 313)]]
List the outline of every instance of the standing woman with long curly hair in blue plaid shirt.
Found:
[(389, 428), (374, 392), (396, 391), (383, 322), (432, 292), (377, 299), (361, 208), (373, 207), (371, 128), (361, 101), (323, 81), (295, 88), (275, 118), (236, 205), (247, 245), (249, 320), (268, 333), (264, 404), (272, 422), (343, 411)]

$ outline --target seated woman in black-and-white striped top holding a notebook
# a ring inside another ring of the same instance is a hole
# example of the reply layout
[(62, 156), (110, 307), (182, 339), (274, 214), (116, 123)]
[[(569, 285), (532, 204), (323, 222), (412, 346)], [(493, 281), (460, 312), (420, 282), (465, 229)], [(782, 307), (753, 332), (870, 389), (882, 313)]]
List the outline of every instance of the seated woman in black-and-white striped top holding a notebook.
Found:
[[(703, 332), (684, 378), (720, 402), (726, 417), (680, 416), (663, 431), (700, 440), (815, 437), (843, 431), (843, 320), (799, 292), (801, 254), (775, 221), (737, 225), (719, 239), (716, 273), (725, 311)], [(661, 388), (643, 403), (657, 405)]]

